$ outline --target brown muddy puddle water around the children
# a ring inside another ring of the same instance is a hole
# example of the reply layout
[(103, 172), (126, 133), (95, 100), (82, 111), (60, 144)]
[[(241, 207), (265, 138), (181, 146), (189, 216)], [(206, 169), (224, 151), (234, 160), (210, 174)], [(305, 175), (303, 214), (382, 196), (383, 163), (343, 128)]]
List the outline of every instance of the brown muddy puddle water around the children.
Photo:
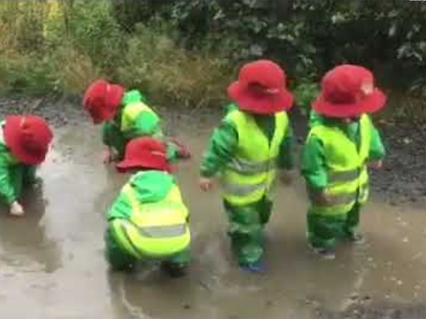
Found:
[(391, 206), (373, 194), (362, 214), (367, 241), (342, 244), (321, 260), (305, 239), (301, 179), (278, 190), (267, 227), (267, 271), (238, 270), (225, 234), (218, 190), (198, 189), (198, 163), (209, 129), (178, 135), (191, 161), (177, 172), (191, 211), (190, 273), (169, 279), (155, 265), (111, 273), (103, 256), (104, 212), (127, 176), (101, 164), (98, 129), (57, 130), (25, 196), (27, 216), (0, 214), (0, 317), (3, 318), (424, 318), (424, 203)]

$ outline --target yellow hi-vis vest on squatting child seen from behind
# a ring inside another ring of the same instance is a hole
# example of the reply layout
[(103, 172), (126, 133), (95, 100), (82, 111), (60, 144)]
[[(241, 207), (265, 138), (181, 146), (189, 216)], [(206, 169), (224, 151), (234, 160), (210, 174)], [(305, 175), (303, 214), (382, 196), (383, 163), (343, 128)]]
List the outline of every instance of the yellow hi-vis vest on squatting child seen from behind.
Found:
[(127, 253), (138, 259), (155, 259), (173, 256), (189, 247), (188, 210), (176, 185), (156, 203), (141, 204), (131, 183), (122, 192), (128, 198), (132, 214), (128, 220), (115, 218), (110, 223)]

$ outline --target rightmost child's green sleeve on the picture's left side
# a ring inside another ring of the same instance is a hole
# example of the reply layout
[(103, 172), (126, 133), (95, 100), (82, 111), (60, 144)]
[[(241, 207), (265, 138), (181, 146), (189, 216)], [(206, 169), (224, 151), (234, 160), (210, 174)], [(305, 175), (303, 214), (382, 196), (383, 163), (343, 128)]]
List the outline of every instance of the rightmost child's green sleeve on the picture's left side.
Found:
[(301, 173), (311, 189), (322, 189), (327, 186), (324, 147), (319, 138), (311, 135), (302, 152)]

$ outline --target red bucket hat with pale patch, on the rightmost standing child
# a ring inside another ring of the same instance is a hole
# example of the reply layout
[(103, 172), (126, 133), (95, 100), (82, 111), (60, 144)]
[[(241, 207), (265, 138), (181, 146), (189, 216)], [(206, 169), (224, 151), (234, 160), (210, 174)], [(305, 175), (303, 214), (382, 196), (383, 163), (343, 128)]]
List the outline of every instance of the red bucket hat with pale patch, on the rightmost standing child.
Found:
[(376, 112), (385, 103), (386, 95), (374, 86), (374, 76), (368, 69), (343, 64), (324, 75), (321, 93), (312, 108), (325, 116), (345, 118)]

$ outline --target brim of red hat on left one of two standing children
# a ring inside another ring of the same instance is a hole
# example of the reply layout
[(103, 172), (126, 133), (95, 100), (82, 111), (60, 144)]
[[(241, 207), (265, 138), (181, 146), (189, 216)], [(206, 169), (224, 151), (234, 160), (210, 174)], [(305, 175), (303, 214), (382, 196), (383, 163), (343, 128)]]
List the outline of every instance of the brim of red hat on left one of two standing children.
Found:
[(294, 100), (293, 95), (284, 87), (276, 94), (260, 97), (250, 94), (238, 81), (228, 86), (227, 93), (238, 104), (239, 109), (262, 115), (288, 111)]

